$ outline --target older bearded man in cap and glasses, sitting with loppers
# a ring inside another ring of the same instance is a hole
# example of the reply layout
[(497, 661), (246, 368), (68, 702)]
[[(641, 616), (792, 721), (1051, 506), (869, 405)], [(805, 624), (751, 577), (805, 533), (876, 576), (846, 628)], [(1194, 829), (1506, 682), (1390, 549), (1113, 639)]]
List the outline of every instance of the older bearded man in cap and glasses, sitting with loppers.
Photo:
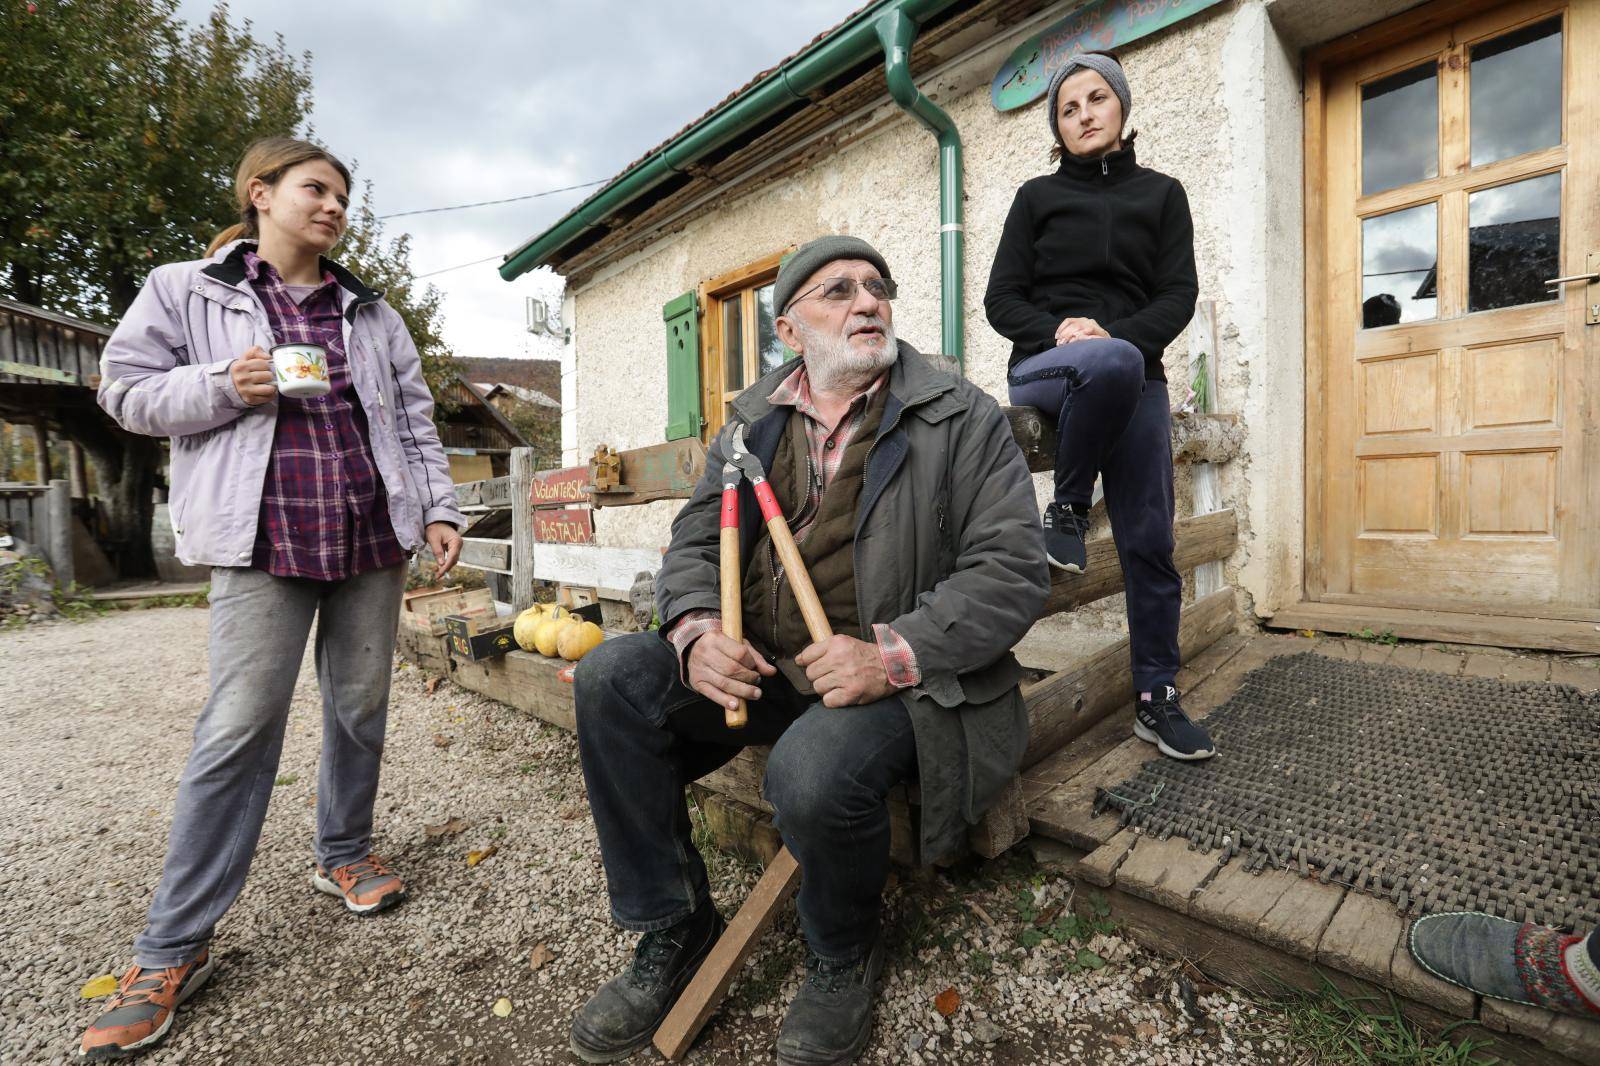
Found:
[[(960, 850), (1016, 771), (1027, 715), (1010, 648), (1045, 603), (1027, 464), (995, 402), (896, 341), (888, 264), (822, 237), (779, 267), (778, 336), (800, 359), (746, 389), (656, 578), (661, 634), (608, 640), (578, 669), (578, 746), (611, 916), (634, 962), (578, 1012), (586, 1061), (650, 1042), (723, 930), (683, 789), (773, 744), (765, 795), (802, 868), (806, 980), (778, 1061), (850, 1063), (883, 965), (885, 797), (922, 787), (922, 858)], [(813, 643), (749, 485), (747, 640), (722, 634), (718, 511), (736, 427), (770, 474), (835, 635)], [(749, 701), (731, 730), (725, 709)]]

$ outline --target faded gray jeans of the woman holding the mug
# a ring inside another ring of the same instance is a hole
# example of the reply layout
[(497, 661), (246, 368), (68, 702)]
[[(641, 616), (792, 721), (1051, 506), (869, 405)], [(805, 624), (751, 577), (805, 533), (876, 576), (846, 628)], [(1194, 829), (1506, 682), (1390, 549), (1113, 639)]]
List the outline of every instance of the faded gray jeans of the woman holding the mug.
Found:
[(178, 784), (162, 884), (133, 941), (136, 965), (198, 956), (245, 887), (312, 619), (322, 683), (317, 861), (333, 869), (366, 858), (405, 570), (346, 581), (211, 571), (211, 696)]

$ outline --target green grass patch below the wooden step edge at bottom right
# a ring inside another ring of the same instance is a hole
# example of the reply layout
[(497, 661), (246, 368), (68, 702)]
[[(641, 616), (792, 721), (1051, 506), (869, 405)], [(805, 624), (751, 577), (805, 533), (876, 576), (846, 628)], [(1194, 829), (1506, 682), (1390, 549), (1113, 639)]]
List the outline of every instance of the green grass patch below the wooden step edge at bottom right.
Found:
[[(1320, 992), (1277, 1000), (1280, 1018), (1270, 1036), (1290, 1040), (1309, 1066), (1490, 1066), (1490, 1040), (1450, 1040), (1459, 1021), (1432, 1036), (1402, 1013), (1395, 997), (1346, 996), (1331, 983)], [(1267, 1036), (1267, 1034), (1262, 1034)]]

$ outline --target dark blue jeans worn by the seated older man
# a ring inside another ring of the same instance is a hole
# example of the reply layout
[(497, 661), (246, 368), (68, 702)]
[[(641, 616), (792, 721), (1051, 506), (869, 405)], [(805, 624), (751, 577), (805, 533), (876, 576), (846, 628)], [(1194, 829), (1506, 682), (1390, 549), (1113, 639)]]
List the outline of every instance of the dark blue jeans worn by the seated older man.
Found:
[(683, 791), (746, 744), (773, 744), (762, 792), (800, 863), (811, 951), (848, 959), (872, 940), (890, 871), (885, 797), (917, 771), (898, 696), (824, 707), (779, 674), (762, 679), (749, 723), (730, 730), (720, 706), (683, 685), (656, 634), (606, 640), (574, 680), (578, 754), (618, 925), (667, 928), (710, 900)]

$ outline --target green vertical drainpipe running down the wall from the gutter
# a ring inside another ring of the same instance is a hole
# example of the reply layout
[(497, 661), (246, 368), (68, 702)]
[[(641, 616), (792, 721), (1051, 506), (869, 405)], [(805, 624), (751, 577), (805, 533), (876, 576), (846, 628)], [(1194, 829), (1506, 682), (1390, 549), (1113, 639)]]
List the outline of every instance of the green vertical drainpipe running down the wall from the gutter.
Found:
[(965, 370), (962, 248), (966, 243), (966, 227), (962, 224), (962, 134), (955, 122), (910, 80), (910, 43), (917, 37), (917, 22), (904, 8), (896, 6), (878, 16), (877, 30), (883, 42), (890, 96), (939, 138), (939, 336), (941, 351)]

